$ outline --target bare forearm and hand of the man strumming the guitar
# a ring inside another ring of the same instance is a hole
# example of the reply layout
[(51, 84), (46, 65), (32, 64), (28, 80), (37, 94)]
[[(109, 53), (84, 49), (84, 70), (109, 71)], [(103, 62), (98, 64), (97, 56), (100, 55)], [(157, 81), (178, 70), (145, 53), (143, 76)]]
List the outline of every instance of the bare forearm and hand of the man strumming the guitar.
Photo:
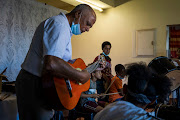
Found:
[(46, 55), (44, 57), (42, 76), (47, 76), (47, 74), (51, 74), (52, 76), (56, 76), (58, 78), (73, 79), (81, 83), (85, 83), (90, 79), (90, 74), (87, 70), (79, 71), (74, 69), (61, 58), (51, 55)]

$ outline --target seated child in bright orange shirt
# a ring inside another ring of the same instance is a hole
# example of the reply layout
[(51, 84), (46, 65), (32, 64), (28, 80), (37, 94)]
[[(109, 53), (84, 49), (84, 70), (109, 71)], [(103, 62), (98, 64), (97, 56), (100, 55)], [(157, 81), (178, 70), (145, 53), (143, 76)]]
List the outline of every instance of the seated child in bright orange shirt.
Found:
[(116, 76), (111, 79), (111, 87), (109, 93), (118, 93), (109, 96), (109, 102), (115, 102), (121, 100), (123, 97), (122, 79), (125, 77), (125, 67), (122, 64), (115, 66)]

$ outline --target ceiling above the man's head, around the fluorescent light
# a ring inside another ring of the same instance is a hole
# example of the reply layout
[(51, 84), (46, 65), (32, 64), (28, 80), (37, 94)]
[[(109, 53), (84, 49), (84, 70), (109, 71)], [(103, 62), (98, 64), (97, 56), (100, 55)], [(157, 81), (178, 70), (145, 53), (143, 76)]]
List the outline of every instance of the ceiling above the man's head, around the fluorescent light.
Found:
[[(81, 4), (76, 0), (37, 0), (42, 3), (63, 9), (66, 11), (71, 11), (76, 5)], [(102, 9), (108, 9), (112, 7), (117, 7), (121, 4), (124, 4), (130, 0), (84, 0), (88, 2), (93, 2), (100, 6)]]

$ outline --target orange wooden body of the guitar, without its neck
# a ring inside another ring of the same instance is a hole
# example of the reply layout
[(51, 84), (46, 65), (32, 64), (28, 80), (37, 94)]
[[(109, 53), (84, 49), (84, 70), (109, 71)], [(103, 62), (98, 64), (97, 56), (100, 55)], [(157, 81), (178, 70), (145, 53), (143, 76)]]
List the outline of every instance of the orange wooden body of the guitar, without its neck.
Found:
[[(80, 58), (76, 59), (74, 63), (69, 63), (72, 67), (75, 69), (85, 69), (86, 65), (84, 61)], [(87, 91), (90, 87), (90, 80), (88, 80), (86, 83), (79, 85), (76, 83), (75, 80), (69, 80), (71, 84), (71, 93), (72, 97), (70, 97), (66, 81), (64, 78), (57, 78), (53, 77), (53, 83), (51, 82), (51, 87), (46, 88), (46, 93), (48, 94), (49, 102), (48, 104), (51, 104), (51, 107), (55, 110), (62, 110), (62, 109), (73, 109), (81, 96), (81, 93), (84, 91)], [(44, 82), (44, 81), (43, 81)], [(52, 93), (53, 92), (53, 93)]]

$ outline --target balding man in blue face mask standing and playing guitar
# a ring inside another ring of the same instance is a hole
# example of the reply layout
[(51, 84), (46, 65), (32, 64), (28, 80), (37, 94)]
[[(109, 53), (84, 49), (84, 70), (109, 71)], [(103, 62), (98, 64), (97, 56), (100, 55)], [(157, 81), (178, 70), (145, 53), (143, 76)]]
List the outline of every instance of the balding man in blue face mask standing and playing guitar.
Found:
[[(96, 14), (81, 4), (70, 13), (60, 13), (43, 21), (36, 29), (22, 69), (16, 79), (18, 112), (21, 120), (50, 120), (53, 110), (46, 107), (41, 78), (56, 76), (86, 83), (90, 74), (67, 63), (72, 56), (71, 36), (93, 26)], [(48, 84), (49, 86), (51, 84)], [(48, 86), (47, 85), (47, 86)]]

